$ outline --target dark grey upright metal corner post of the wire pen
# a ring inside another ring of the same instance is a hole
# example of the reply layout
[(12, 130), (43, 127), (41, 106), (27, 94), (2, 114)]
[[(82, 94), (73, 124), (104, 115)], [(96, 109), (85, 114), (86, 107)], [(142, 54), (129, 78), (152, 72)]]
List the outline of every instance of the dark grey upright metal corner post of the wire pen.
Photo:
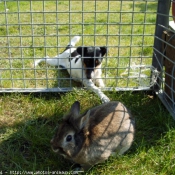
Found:
[[(154, 48), (153, 48), (154, 50), (153, 50), (153, 60), (152, 60), (152, 66), (160, 72), (156, 84), (152, 87), (152, 89), (156, 92), (160, 90), (161, 82), (162, 82), (161, 72), (163, 69), (163, 54), (161, 53), (162, 52), (161, 39), (162, 39), (163, 31), (165, 30), (164, 27), (167, 28), (169, 25), (170, 4), (171, 4), (171, 0), (158, 0)], [(153, 76), (153, 72), (152, 72), (152, 76)]]

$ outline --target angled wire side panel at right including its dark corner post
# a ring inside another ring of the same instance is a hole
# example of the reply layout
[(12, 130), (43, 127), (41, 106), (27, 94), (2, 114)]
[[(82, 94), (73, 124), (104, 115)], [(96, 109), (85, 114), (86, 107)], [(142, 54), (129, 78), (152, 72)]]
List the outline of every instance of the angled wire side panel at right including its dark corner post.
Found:
[(172, 2), (167, 0), (158, 4), (152, 78), (155, 80), (154, 75), (157, 77), (153, 90), (175, 119), (175, 22), (172, 21)]

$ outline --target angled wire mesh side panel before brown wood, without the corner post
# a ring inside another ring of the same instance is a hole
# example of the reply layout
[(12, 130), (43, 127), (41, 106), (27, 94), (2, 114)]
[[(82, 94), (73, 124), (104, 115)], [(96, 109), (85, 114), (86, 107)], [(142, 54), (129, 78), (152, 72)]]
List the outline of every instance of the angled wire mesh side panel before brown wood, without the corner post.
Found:
[[(164, 28), (167, 39), (159, 38), (163, 45), (160, 54), (163, 57), (164, 66), (158, 77), (160, 83), (157, 94), (175, 119), (175, 31), (172, 28), (161, 27)], [(160, 60), (158, 62), (160, 64)]]

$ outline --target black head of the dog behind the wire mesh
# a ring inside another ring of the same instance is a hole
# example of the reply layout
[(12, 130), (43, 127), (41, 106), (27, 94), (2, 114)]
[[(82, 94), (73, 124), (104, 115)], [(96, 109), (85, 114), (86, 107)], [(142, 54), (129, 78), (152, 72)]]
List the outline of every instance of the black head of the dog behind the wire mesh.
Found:
[(95, 68), (101, 64), (103, 56), (107, 53), (106, 47), (78, 47), (78, 54), (81, 55), (84, 67), (86, 69), (87, 79), (93, 77)]

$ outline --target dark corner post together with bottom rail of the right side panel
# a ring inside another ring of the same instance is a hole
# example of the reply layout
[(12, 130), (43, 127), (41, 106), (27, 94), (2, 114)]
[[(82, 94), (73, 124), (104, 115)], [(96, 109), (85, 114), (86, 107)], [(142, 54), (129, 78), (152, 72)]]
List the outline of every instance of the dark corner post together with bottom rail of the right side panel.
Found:
[(152, 66), (157, 69), (157, 71), (159, 72), (159, 76), (157, 78), (156, 84), (152, 87), (152, 90), (158, 95), (159, 99), (172, 115), (173, 119), (175, 119), (175, 102), (171, 103), (170, 101), (168, 101), (164, 89), (161, 88), (163, 85), (163, 66), (165, 56), (162, 53), (162, 42), (164, 41), (162, 39), (162, 35), (163, 32), (169, 27), (170, 7), (171, 0), (158, 0)]

